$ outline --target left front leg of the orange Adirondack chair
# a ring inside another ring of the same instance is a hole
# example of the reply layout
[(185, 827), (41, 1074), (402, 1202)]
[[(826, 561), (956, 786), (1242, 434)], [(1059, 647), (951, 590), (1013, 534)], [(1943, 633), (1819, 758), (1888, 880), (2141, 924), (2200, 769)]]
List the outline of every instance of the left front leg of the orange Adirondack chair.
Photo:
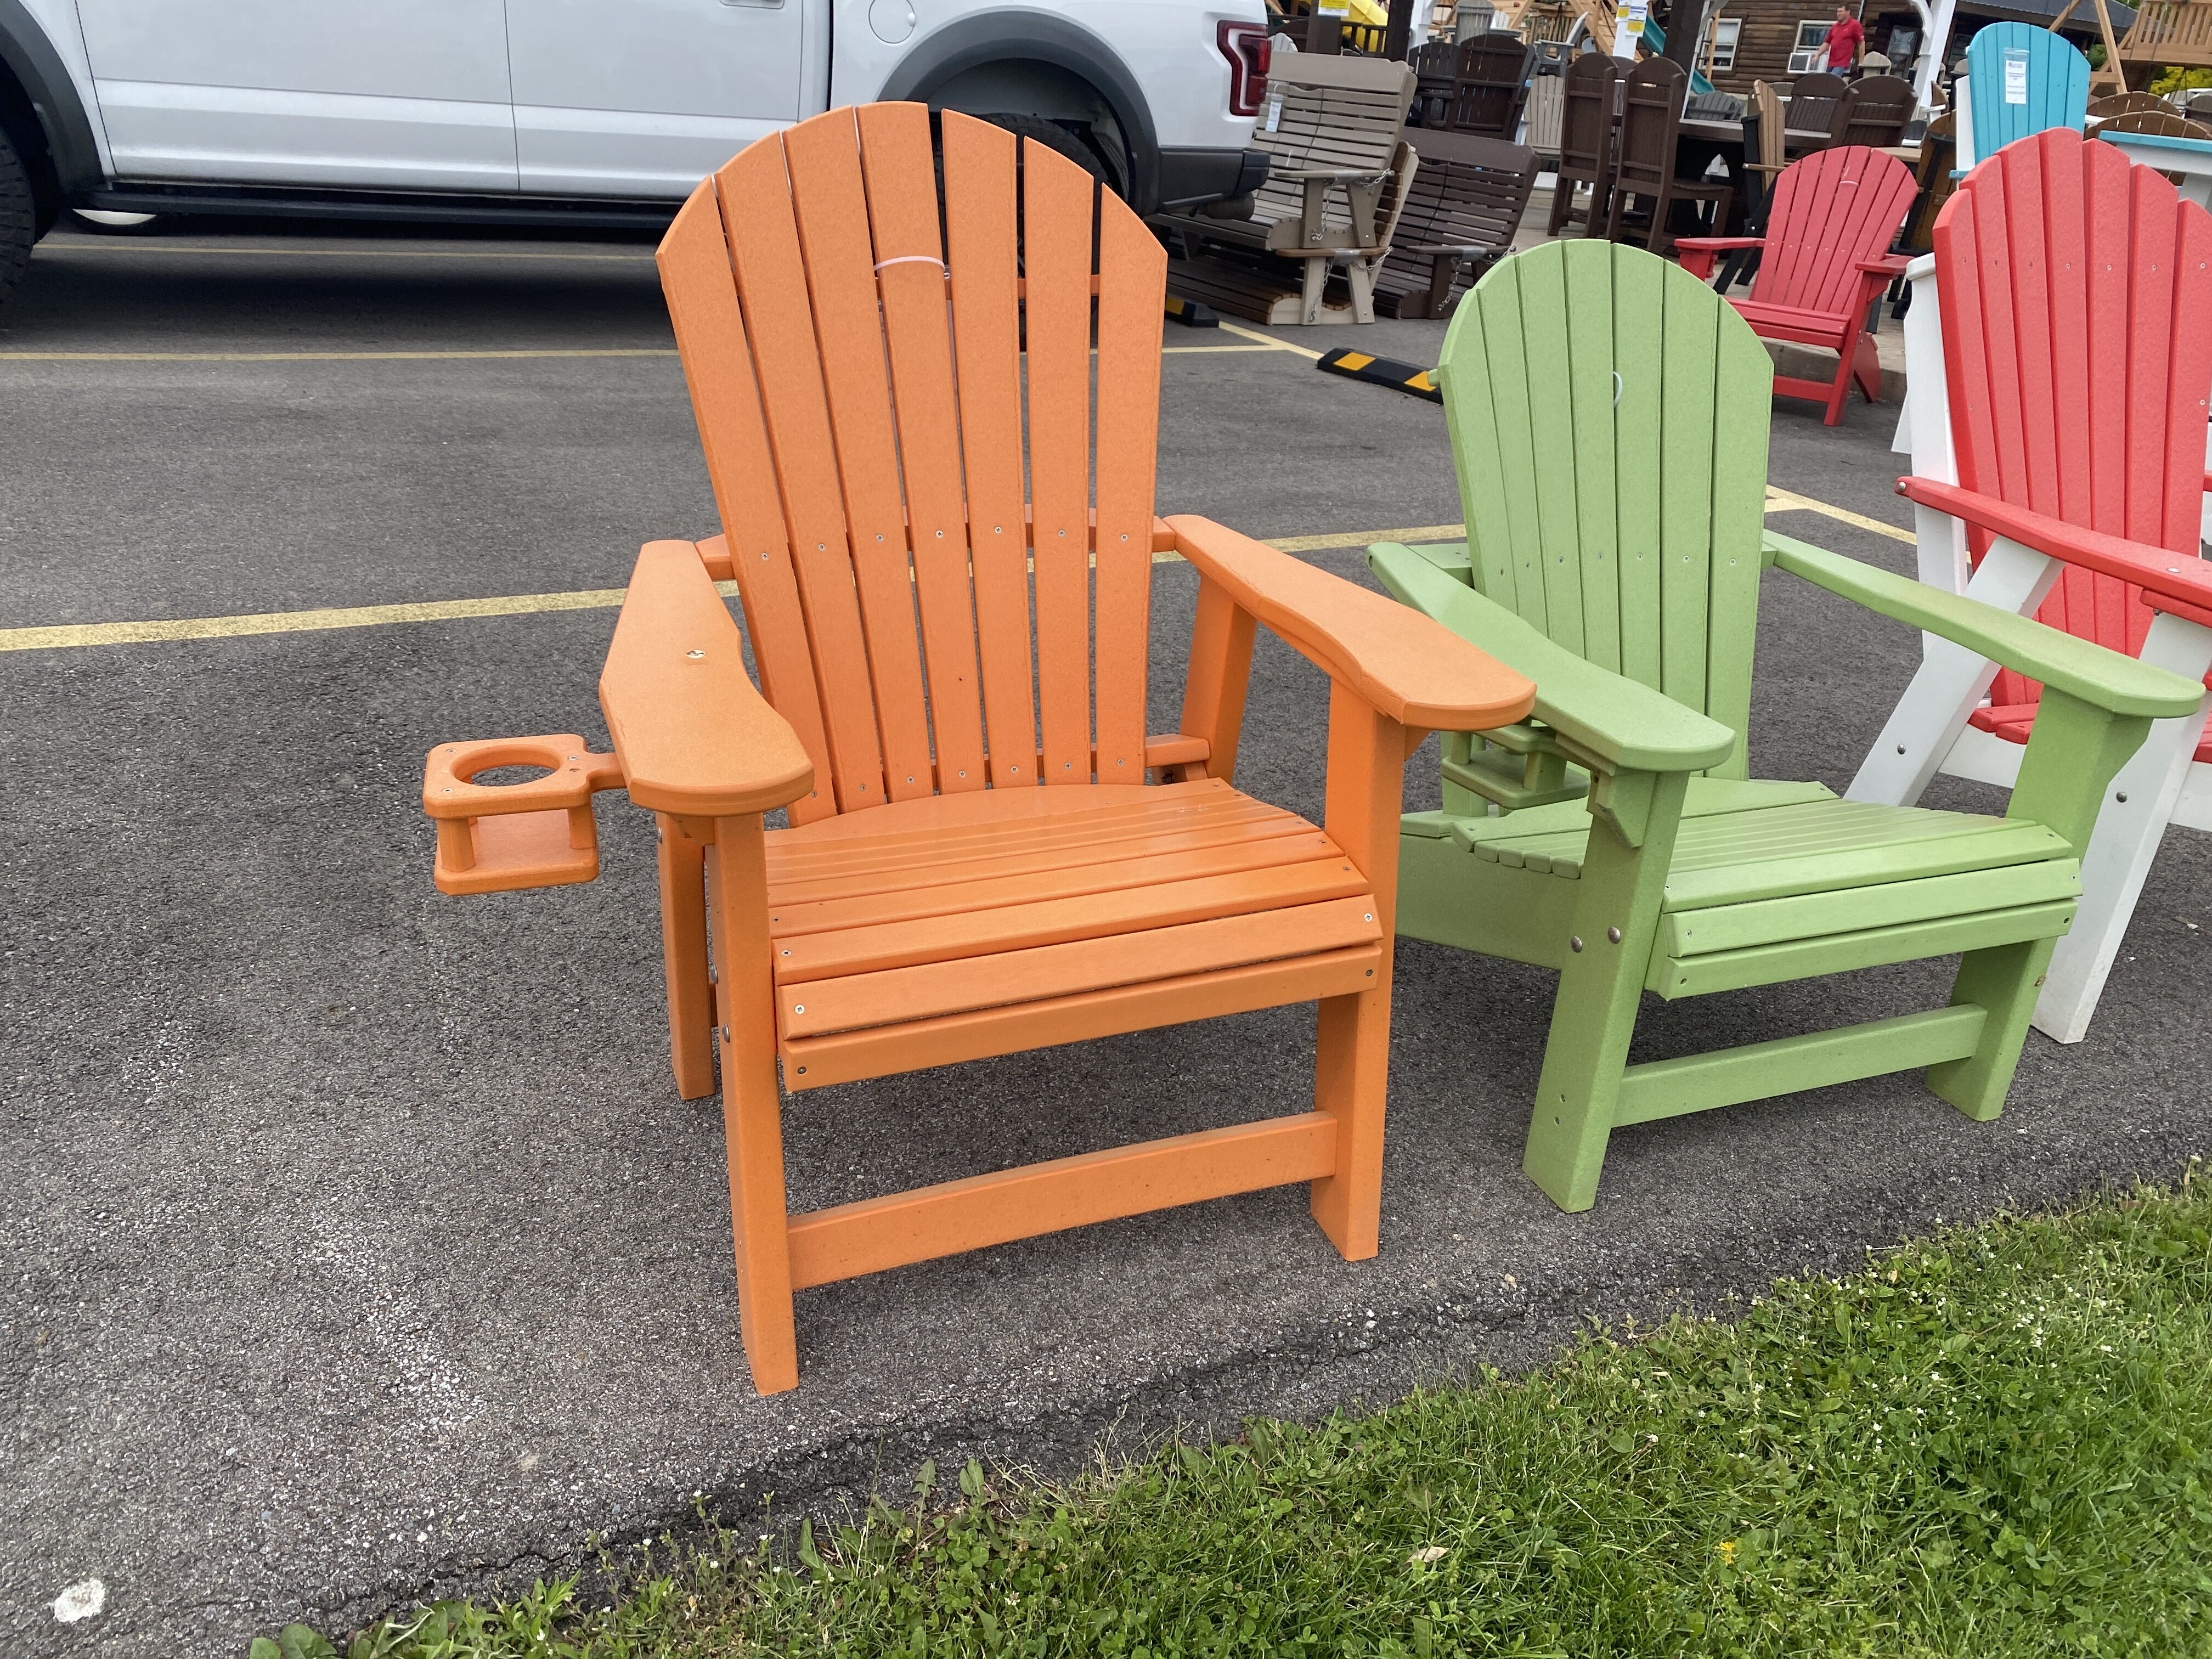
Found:
[[(666, 845), (666, 843), (664, 843)], [(783, 1188), (783, 1097), (776, 1084), (776, 987), (768, 940), (768, 849), (761, 818), (717, 818), (708, 914), (719, 964), (721, 1121), (730, 1152), (737, 1310), (752, 1387), (799, 1387), (792, 1243)]]

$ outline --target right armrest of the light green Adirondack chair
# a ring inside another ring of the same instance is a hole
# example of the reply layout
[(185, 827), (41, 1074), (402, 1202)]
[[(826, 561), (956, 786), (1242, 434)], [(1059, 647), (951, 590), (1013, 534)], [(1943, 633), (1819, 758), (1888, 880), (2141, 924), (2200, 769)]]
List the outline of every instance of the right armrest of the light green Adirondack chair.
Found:
[(2192, 679), (2046, 628), (2033, 617), (1997, 611), (1960, 593), (1942, 593), (1907, 575), (1891, 575), (1774, 531), (1765, 533), (1763, 546), (1778, 568), (1814, 586), (1978, 650), (2028, 679), (2115, 714), (2172, 719), (2194, 710), (2203, 697), (2203, 686)]

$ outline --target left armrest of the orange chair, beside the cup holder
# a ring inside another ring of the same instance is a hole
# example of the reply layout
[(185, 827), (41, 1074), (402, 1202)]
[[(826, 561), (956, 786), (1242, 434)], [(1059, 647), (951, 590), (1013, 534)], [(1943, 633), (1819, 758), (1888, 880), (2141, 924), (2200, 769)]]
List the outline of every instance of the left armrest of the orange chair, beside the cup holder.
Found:
[(690, 542), (646, 542), (599, 675), (630, 799), (730, 818), (790, 805), (814, 763), (745, 675), (737, 619)]

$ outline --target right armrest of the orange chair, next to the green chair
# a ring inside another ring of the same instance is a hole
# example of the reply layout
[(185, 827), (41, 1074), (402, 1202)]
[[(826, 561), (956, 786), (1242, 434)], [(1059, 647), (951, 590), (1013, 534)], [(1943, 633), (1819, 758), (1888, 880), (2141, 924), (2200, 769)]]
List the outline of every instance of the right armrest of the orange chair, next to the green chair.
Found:
[(1535, 684), (1396, 599), (1206, 518), (1168, 526), (1177, 553), (1239, 611), (1400, 726), (1486, 732), (1535, 706)]

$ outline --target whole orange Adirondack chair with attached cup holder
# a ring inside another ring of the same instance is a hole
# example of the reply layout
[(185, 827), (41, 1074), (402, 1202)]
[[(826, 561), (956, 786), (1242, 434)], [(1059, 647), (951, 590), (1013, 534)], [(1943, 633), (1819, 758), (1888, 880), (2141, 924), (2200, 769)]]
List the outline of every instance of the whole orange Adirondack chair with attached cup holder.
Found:
[[(449, 745), (425, 803), (440, 887), (478, 891), (588, 880), (595, 787), (659, 814), (677, 1088), (719, 1060), (754, 1385), (799, 1380), (796, 1287), (1108, 1217), (1310, 1181), (1371, 1256), (1405, 757), (1533, 686), (1152, 518), (1166, 252), (1046, 148), (945, 113), (940, 219), (929, 113), (832, 111), (703, 181), (659, 265), (723, 535), (639, 553), (613, 757)], [(1146, 737), (1170, 549), (1201, 575), (1190, 679)], [(1256, 624), (1329, 672), (1321, 830), (1230, 783)], [(471, 781), (518, 757), (555, 770)], [(1321, 1004), (1314, 1110), (785, 1212), (779, 1062), (821, 1088), (1287, 1002)]]

